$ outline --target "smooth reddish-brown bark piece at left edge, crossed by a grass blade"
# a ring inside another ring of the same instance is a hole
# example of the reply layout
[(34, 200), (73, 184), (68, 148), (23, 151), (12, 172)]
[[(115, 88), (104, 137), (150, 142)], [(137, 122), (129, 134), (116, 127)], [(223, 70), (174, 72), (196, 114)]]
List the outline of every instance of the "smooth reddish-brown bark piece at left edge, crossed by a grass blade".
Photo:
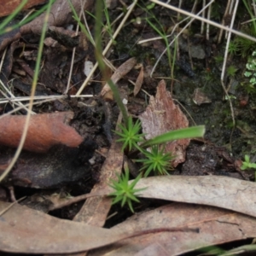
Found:
[[(83, 142), (83, 137), (67, 125), (71, 119), (73, 112), (32, 115), (23, 148), (43, 153), (56, 144), (78, 147)], [(18, 147), (25, 121), (25, 115), (8, 115), (0, 119), (0, 144)]]

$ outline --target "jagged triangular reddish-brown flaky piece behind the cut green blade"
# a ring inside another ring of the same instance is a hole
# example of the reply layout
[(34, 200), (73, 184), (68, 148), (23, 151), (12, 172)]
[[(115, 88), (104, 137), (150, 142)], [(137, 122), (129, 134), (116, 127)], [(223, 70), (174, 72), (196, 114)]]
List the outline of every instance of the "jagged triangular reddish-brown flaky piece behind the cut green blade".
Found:
[[(139, 116), (139, 119), (142, 121), (146, 139), (189, 126), (188, 119), (174, 104), (170, 92), (166, 90), (164, 80), (160, 81), (155, 97), (150, 97), (148, 108)], [(182, 139), (166, 143), (166, 152), (172, 152), (175, 156), (175, 160), (172, 161), (174, 167), (185, 160), (185, 149), (189, 141), (189, 139)]]

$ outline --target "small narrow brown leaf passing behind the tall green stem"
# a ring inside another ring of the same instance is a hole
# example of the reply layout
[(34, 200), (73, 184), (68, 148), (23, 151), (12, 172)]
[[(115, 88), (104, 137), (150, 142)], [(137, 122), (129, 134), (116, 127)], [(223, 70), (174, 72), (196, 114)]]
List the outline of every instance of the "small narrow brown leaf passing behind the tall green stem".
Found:
[[(131, 68), (134, 67), (137, 63), (136, 58), (131, 58), (128, 61), (125, 61), (117, 70), (113, 73), (111, 80), (113, 84), (116, 84), (119, 79), (122, 79), (126, 73), (131, 71)], [(102, 88), (101, 96), (104, 99), (113, 100), (113, 93), (108, 84), (105, 84)]]

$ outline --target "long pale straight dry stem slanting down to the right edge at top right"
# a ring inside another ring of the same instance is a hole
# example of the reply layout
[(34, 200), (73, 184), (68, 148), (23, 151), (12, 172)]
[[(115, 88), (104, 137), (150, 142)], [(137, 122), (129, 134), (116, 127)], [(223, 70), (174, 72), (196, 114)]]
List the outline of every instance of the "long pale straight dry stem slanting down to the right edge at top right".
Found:
[[(216, 27), (218, 27), (218, 28), (222, 28), (222, 29), (224, 29), (224, 30), (226, 30), (226, 31), (229, 31), (229, 32), (232, 32), (232, 33), (236, 34), (237, 36), (240, 36), (241, 38), (247, 38), (247, 39), (249, 39), (249, 40), (252, 40), (253, 42), (256, 42), (256, 38), (253, 38), (253, 37), (251, 37), (251, 36), (249, 36), (249, 35), (247, 35), (247, 34), (245, 34), (245, 33), (238, 32), (238, 31), (236, 31), (236, 30), (234, 30), (234, 29), (230, 29), (229, 27), (225, 27), (225, 26), (223, 26), (223, 25), (220, 25), (220, 24), (218, 24), (217, 22), (214, 22), (214, 21), (212, 21), (212, 20), (203, 19), (203, 18), (201, 18), (201, 16), (199, 16), (199, 15), (193, 15), (193, 14), (191, 14), (191, 13), (189, 13), (189, 12), (183, 10), (183, 9), (177, 9), (176, 7), (174, 7), (174, 6), (172, 6), (172, 5), (168, 5), (168, 4), (166, 4), (166, 3), (162, 3), (162, 2), (160, 2), (159, 0), (150, 0), (150, 1), (153, 2), (153, 3), (157, 3), (157, 4), (161, 5), (161, 6), (164, 6), (164, 7), (168, 8), (168, 9), (172, 9), (172, 10), (174, 10), (174, 11), (180, 12), (180, 13), (182, 13), (183, 15), (188, 15), (189, 17), (192, 17), (192, 18), (194, 18), (195, 20), (204, 20), (206, 23), (209, 23), (209, 24), (212, 25), (212, 26), (216, 26)], [(211, 1), (210, 3), (207, 3), (207, 7), (208, 7), (210, 4), (212, 4), (213, 2), (214, 2), (214, 1)], [(200, 11), (198, 14), (201, 14), (201, 11)]]

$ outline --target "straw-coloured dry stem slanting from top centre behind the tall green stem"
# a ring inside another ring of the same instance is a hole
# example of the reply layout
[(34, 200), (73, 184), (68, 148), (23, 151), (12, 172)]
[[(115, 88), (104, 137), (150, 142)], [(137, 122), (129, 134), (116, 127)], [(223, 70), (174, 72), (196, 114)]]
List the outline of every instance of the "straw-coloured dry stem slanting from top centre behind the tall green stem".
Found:
[[(108, 52), (108, 49), (110, 49), (111, 45), (113, 44), (113, 40), (118, 36), (119, 31), (121, 30), (121, 28), (124, 26), (125, 21), (128, 19), (128, 17), (131, 15), (131, 11), (134, 9), (134, 7), (137, 4), (137, 0), (134, 1), (134, 3), (131, 4), (131, 9), (128, 10), (128, 12), (126, 13), (124, 19), (120, 22), (117, 30), (113, 33), (113, 38), (111, 40), (109, 40), (108, 45), (106, 46), (106, 48), (103, 50), (102, 55), (106, 55)], [(96, 62), (96, 64), (94, 65), (94, 67), (91, 69), (90, 74), (88, 75), (88, 77), (84, 80), (84, 83), (82, 84), (82, 86), (80, 87), (79, 91), (77, 92), (76, 96), (79, 96), (81, 94), (81, 92), (84, 90), (84, 87), (88, 84), (88, 82), (90, 81), (91, 76), (93, 75), (93, 73), (95, 73), (96, 68), (98, 67), (98, 62)]]

